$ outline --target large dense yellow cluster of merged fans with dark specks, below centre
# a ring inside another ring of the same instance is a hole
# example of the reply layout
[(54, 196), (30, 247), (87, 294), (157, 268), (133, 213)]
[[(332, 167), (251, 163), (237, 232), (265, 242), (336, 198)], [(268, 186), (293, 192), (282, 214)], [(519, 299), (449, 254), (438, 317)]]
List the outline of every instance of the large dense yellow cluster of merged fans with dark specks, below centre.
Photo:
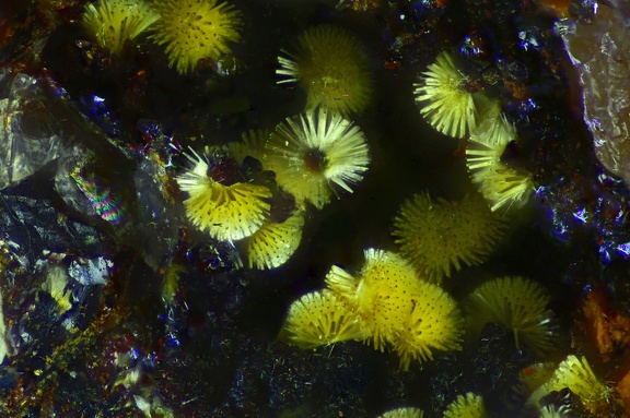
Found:
[[(307, 294), (292, 304), (284, 325), (289, 342), (312, 345), (314, 333), (320, 335), (318, 345), (361, 339), (382, 351), (392, 348), (404, 370), (412, 361), (432, 360), (434, 351), (460, 349), (464, 324), (455, 301), (395, 253), (368, 249), (358, 275), (332, 266), (326, 285), (323, 294)], [(328, 301), (326, 307), (304, 303), (328, 294), (335, 310), (328, 310)]]

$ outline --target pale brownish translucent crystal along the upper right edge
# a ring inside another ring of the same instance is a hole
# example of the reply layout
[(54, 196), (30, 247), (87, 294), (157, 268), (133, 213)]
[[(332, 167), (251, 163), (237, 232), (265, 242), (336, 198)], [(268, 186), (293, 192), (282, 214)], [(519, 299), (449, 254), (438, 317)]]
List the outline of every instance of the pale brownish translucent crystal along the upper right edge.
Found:
[(593, 19), (560, 31), (582, 84), (595, 153), (630, 184), (630, 24), (628, 8), (599, 3)]

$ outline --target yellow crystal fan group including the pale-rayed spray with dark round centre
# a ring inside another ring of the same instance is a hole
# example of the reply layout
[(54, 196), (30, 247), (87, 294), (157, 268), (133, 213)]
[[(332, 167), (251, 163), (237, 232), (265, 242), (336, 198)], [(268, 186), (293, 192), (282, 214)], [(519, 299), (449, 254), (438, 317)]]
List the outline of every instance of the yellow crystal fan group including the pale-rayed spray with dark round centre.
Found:
[[(338, 194), (336, 187), (352, 192), (370, 163), (359, 127), (324, 111), (288, 118), (273, 131), (247, 132), (242, 142), (221, 151), (186, 155), (191, 167), (176, 180), (188, 194), (187, 217), (214, 239), (244, 240), (248, 265), (256, 268), (284, 264), (300, 244), (306, 204), (322, 208), (331, 194)], [(295, 202), (291, 213), (278, 219), (270, 202), (279, 192), (270, 184), (245, 180), (238, 167), (248, 157), (275, 172), (281, 193)]]

